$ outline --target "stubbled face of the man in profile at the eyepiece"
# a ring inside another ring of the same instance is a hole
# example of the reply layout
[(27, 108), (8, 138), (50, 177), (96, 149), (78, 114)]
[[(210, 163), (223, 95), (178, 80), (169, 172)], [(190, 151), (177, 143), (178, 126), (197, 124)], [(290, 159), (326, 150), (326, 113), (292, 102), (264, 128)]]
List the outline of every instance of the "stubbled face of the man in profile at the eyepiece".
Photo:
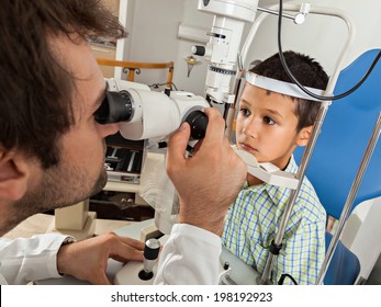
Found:
[(104, 137), (117, 132), (116, 124), (100, 125), (94, 121), (93, 114), (104, 98), (105, 81), (89, 45), (85, 41), (74, 43), (64, 35), (51, 41), (60, 62), (76, 76), (71, 100), (76, 124), (58, 143), (59, 163), (47, 170), (34, 168), (31, 189), (14, 205), (13, 217), (19, 221), (100, 192), (107, 182)]

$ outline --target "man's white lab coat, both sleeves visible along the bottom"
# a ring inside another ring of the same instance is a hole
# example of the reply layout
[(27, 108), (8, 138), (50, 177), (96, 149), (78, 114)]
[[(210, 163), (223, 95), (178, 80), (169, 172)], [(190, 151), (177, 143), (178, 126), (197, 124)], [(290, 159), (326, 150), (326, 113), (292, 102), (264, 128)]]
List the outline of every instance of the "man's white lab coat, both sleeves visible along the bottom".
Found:
[[(67, 236), (46, 234), (29, 239), (0, 239), (0, 284), (57, 278), (57, 252)], [(177, 224), (160, 254), (155, 284), (218, 283), (221, 239), (204, 229)]]

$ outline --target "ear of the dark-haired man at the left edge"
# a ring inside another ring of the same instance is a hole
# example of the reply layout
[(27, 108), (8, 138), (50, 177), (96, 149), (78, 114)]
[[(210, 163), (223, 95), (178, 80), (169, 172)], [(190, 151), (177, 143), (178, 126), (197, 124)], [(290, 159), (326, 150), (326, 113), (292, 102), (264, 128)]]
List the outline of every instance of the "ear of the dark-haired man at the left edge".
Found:
[(23, 156), (4, 152), (0, 147), (0, 200), (14, 202), (23, 197), (31, 174)]

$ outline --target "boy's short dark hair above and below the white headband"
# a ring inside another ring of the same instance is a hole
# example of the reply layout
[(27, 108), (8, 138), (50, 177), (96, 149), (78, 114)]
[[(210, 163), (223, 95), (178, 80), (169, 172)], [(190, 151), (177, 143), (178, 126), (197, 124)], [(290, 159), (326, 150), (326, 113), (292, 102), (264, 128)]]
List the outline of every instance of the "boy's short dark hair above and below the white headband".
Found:
[[(294, 52), (283, 53), (285, 62), (292, 75), (304, 87), (325, 90), (328, 83), (328, 76), (322, 66), (309, 56)], [(277, 79), (284, 82), (292, 82), (280, 61), (279, 54), (276, 54), (250, 69), (257, 75)], [(296, 99), (296, 98), (295, 98)], [(296, 130), (311, 126), (315, 123), (321, 102), (305, 99), (298, 99), (295, 114), (298, 116)]]

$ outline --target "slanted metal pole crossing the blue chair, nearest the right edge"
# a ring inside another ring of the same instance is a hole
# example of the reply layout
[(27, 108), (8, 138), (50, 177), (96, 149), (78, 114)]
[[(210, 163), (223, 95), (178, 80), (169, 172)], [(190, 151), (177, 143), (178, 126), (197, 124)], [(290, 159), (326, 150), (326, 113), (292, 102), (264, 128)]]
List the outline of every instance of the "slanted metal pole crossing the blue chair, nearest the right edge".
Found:
[(381, 113), (379, 114), (379, 117), (378, 117), (378, 120), (376, 122), (372, 135), (371, 135), (371, 137), (369, 139), (367, 149), (366, 149), (366, 151), (363, 154), (360, 167), (359, 167), (359, 169), (357, 171), (355, 181), (352, 183), (352, 186), (349, 190), (349, 194), (348, 194), (347, 201), (346, 201), (346, 203), (344, 205), (344, 208), (343, 208), (339, 221), (338, 221), (337, 230), (336, 230), (335, 235), (332, 238), (332, 241), (329, 243), (327, 253), (326, 253), (325, 259), (324, 259), (323, 264), (322, 264), (322, 269), (321, 269), (321, 271), (318, 273), (318, 277), (317, 277), (317, 282), (316, 282), (316, 284), (318, 284), (318, 285), (323, 284), (324, 276), (325, 276), (325, 274), (326, 274), (326, 272), (328, 270), (328, 265), (329, 265), (330, 260), (333, 258), (333, 254), (334, 254), (334, 252), (336, 250), (339, 237), (340, 237), (340, 235), (343, 232), (344, 225), (345, 225), (345, 223), (346, 223), (346, 220), (347, 220), (347, 218), (348, 218), (348, 216), (350, 214), (352, 204), (355, 202), (356, 194), (357, 194), (357, 192), (358, 192), (358, 190), (360, 187), (363, 174), (365, 174), (365, 172), (366, 172), (366, 170), (368, 168), (369, 160), (370, 160), (370, 158), (373, 155), (376, 145), (377, 145), (378, 139), (380, 137), (380, 132), (381, 132)]

